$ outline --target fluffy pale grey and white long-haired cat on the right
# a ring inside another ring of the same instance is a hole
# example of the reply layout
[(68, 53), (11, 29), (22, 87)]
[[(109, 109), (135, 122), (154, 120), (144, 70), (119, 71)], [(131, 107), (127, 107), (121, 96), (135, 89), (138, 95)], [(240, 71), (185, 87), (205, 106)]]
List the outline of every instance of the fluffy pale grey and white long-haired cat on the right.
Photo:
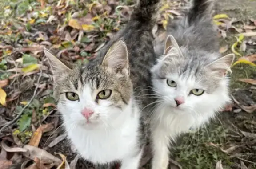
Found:
[(162, 56), (152, 67), (158, 98), (151, 123), (152, 169), (167, 169), (171, 142), (208, 122), (230, 101), (226, 73), (234, 55), (218, 52), (212, 3), (194, 0), (187, 15), (168, 24), (165, 44), (156, 43)]

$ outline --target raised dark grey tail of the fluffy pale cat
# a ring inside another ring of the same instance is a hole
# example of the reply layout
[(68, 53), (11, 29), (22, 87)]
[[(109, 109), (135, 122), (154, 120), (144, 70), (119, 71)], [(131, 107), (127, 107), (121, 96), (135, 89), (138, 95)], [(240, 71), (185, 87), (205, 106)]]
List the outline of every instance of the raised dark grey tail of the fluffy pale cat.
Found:
[(192, 0), (192, 8), (188, 12), (188, 24), (192, 24), (201, 18), (209, 17), (215, 0)]

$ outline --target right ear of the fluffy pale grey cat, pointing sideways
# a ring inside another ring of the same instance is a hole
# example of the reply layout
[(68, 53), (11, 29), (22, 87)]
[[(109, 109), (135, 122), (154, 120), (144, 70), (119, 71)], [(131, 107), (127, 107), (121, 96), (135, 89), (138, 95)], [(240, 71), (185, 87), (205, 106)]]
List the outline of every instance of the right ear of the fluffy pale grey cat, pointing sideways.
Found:
[(221, 77), (224, 77), (228, 71), (232, 72), (230, 67), (232, 66), (234, 59), (234, 54), (228, 54), (208, 64), (207, 67), (213, 72), (217, 72)]

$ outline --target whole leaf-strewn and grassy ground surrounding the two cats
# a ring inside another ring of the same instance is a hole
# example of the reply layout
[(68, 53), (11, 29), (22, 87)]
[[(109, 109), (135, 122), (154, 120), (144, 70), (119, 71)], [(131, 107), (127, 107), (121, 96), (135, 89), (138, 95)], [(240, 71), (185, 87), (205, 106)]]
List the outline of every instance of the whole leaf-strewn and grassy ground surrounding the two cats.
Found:
[[(0, 4), (1, 169), (92, 167), (82, 159), (76, 161), (65, 139), (43, 48), (63, 61), (89, 62), (127, 22), (133, 4), (133, 0), (6, 0)], [(186, 8), (186, 0), (163, 0), (154, 35)], [(256, 169), (256, 1), (218, 1), (213, 16), (220, 52), (236, 54), (230, 74), (234, 103), (202, 129), (179, 138), (172, 147), (170, 168)], [(144, 154), (141, 168), (148, 169), (149, 147)]]

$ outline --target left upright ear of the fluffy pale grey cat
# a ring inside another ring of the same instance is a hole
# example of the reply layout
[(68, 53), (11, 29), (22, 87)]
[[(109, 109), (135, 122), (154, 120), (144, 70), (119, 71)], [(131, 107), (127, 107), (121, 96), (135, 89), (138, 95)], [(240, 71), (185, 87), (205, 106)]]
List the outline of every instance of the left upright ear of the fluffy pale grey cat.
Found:
[(176, 39), (172, 35), (168, 35), (164, 44), (164, 55), (168, 54), (171, 49), (173, 49), (172, 51), (178, 52), (180, 56), (183, 56)]

